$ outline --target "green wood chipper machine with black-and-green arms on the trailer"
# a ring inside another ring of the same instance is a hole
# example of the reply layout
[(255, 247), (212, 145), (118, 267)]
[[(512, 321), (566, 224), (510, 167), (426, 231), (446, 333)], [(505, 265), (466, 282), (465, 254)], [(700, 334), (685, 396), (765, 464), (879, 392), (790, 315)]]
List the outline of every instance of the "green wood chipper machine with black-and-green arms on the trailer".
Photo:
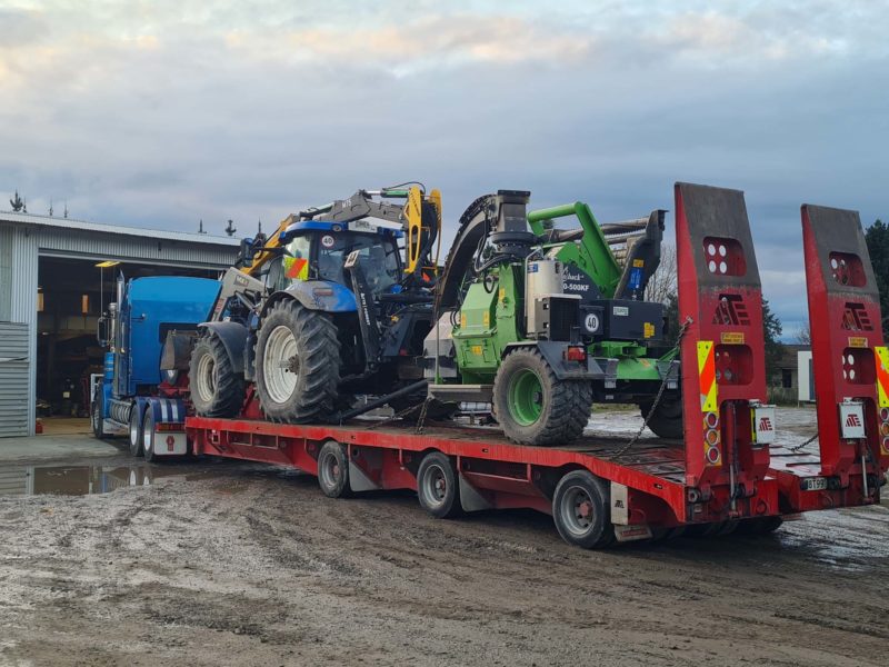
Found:
[(529, 198), (500, 190), (463, 213), (424, 341), (429, 395), (490, 404), (527, 445), (577, 438), (593, 401), (638, 404), (655, 432), (679, 437), (679, 362), (662, 305), (645, 300), (663, 211), (599, 225), (586, 203), (529, 213)]

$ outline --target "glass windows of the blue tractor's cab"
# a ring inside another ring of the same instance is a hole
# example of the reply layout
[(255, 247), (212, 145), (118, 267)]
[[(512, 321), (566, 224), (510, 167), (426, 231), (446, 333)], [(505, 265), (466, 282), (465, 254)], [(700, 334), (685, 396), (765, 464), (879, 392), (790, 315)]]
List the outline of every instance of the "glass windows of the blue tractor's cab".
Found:
[(343, 262), (358, 250), (358, 263), (373, 293), (381, 293), (401, 279), (398, 248), (391, 239), (368, 233), (319, 235), (318, 277), (347, 283)]

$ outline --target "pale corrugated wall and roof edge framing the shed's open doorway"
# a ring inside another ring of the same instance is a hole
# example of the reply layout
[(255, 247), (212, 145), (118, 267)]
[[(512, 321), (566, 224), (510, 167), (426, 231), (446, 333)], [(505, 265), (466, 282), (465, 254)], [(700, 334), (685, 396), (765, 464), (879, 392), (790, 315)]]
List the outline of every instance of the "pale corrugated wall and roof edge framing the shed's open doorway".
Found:
[(222, 270), (239, 239), (0, 212), (0, 437), (36, 419), (38, 267), (42, 258)]

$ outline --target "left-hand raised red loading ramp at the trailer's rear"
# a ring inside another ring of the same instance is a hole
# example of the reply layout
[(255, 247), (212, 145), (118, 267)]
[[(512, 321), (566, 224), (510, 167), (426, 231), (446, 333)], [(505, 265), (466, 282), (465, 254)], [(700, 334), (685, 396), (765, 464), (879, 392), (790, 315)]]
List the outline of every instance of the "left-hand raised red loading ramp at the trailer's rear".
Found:
[[(762, 288), (743, 192), (676, 185), (687, 484), (753, 492), (768, 471), (752, 404), (766, 401)], [(759, 485), (761, 486), (761, 485)], [(770, 508), (771, 511), (777, 508)]]

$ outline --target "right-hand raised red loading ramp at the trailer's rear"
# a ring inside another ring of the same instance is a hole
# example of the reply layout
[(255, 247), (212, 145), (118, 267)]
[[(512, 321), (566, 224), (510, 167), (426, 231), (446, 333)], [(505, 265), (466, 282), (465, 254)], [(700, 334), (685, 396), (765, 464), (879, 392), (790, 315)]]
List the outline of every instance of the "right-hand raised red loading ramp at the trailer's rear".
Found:
[(821, 475), (829, 489), (851, 484), (867, 498), (889, 467), (877, 280), (858, 211), (803, 205), (801, 216)]

